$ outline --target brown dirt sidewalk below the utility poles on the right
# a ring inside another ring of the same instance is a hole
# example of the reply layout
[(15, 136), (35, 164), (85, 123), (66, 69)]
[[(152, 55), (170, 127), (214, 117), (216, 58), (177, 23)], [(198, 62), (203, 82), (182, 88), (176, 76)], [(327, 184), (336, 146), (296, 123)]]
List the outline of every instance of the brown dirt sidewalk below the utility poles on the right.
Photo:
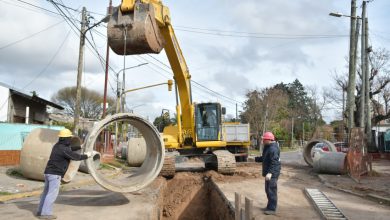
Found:
[(362, 176), (357, 183), (348, 175), (319, 174), (321, 181), (334, 189), (390, 205), (390, 160), (375, 160), (372, 176)]

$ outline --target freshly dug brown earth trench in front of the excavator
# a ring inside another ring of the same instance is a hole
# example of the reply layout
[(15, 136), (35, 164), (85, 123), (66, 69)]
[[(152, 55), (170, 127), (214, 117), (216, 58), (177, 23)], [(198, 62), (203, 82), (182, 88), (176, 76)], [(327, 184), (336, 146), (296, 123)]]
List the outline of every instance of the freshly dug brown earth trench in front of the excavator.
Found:
[(158, 219), (234, 220), (229, 201), (212, 180), (213, 173), (177, 173), (161, 191)]

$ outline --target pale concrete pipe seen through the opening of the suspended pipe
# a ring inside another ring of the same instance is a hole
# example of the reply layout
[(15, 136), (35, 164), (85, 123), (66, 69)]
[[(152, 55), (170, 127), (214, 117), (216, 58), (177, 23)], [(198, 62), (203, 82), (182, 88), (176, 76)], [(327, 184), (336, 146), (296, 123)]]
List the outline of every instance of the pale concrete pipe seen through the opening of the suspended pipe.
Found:
[(130, 166), (139, 167), (146, 157), (146, 142), (143, 137), (131, 138), (127, 147), (127, 162)]

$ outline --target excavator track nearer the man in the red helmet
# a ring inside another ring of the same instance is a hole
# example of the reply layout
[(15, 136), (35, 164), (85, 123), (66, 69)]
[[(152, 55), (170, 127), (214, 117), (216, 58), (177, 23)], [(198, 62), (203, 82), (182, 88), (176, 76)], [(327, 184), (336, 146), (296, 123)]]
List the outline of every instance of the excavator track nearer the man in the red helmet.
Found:
[(216, 163), (212, 166), (216, 168), (218, 173), (233, 175), (236, 170), (236, 158), (232, 153), (227, 150), (216, 150), (213, 151), (216, 156)]

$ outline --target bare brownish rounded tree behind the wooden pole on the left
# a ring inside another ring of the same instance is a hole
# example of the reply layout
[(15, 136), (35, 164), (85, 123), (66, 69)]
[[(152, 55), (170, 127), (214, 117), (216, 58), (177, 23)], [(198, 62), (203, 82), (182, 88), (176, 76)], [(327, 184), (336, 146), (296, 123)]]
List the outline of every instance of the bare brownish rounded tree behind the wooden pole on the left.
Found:
[[(64, 107), (64, 112), (67, 115), (74, 116), (76, 103), (76, 87), (65, 87), (58, 90), (53, 96), (52, 101)], [(109, 105), (108, 112), (115, 112), (115, 101), (111, 97), (107, 97)], [(103, 114), (103, 95), (89, 90), (85, 87), (81, 89), (81, 117), (99, 119)]]

